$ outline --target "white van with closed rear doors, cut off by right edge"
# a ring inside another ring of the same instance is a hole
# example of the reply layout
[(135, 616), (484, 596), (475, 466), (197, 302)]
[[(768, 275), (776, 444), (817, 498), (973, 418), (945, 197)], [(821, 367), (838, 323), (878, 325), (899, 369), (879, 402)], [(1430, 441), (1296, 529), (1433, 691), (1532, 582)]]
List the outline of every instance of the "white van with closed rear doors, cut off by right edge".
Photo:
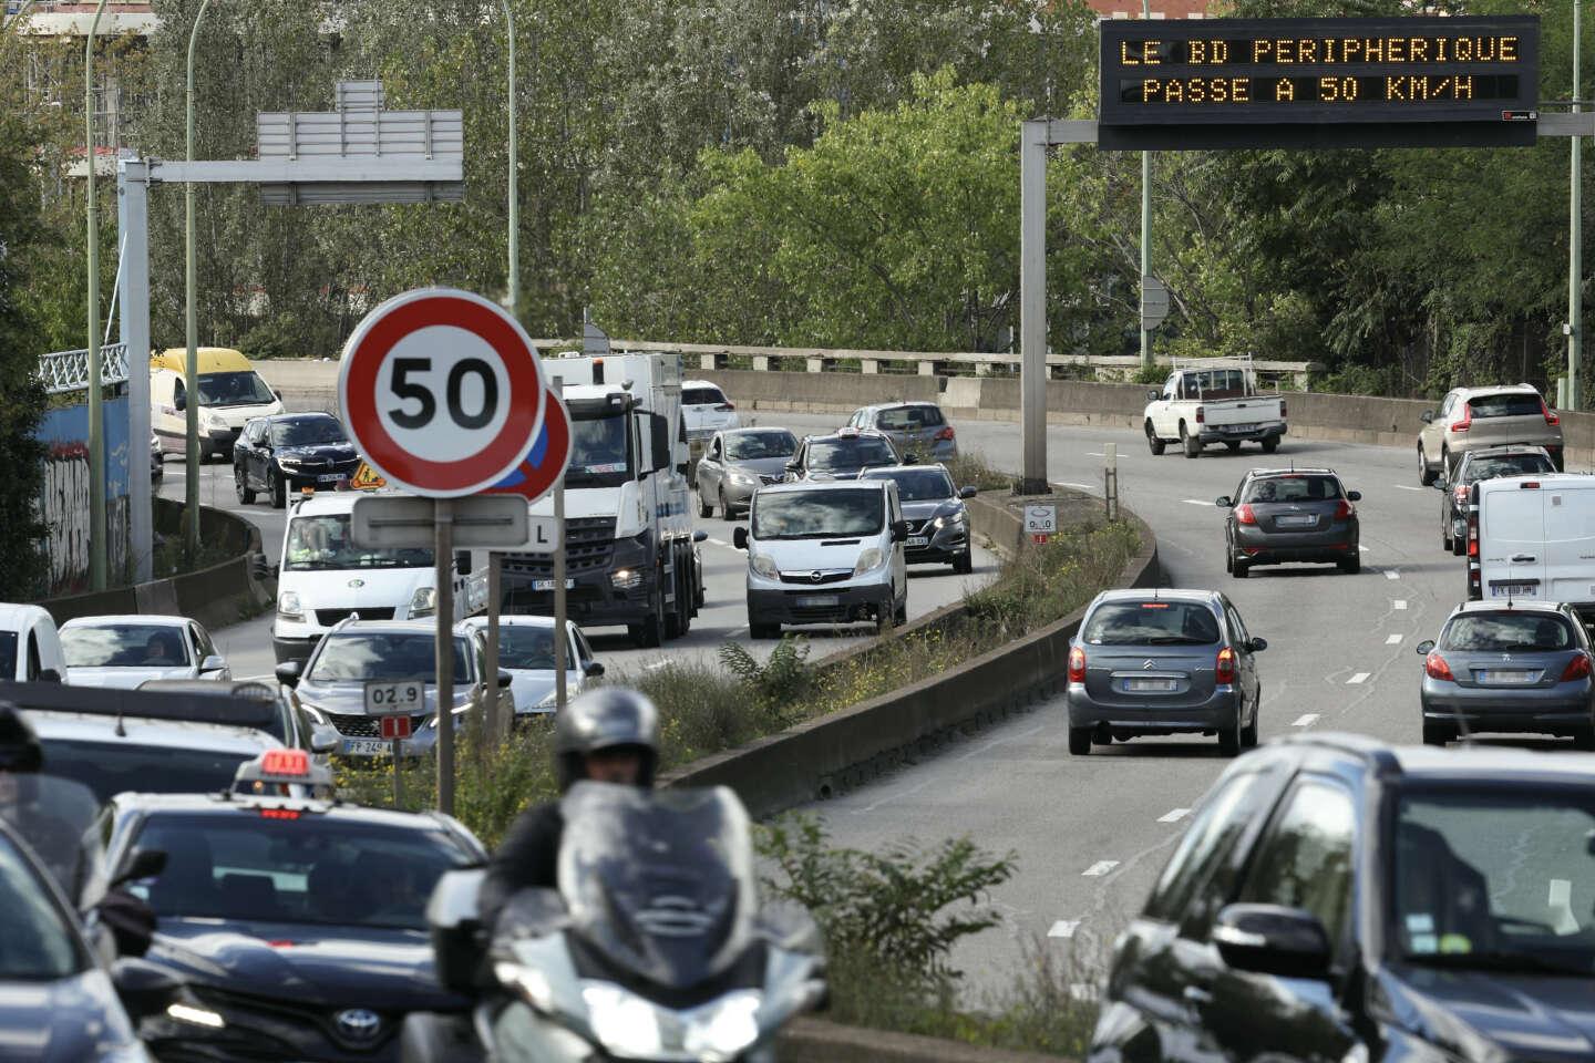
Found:
[(1469, 598), (1568, 602), (1595, 622), (1595, 477), (1485, 480), (1467, 539)]

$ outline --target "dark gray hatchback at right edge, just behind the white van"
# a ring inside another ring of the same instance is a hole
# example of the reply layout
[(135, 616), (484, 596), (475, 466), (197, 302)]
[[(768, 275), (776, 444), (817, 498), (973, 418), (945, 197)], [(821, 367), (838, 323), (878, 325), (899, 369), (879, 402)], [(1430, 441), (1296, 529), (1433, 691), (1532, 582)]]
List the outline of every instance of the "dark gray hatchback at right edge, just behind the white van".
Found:
[(1571, 606), (1464, 602), (1423, 655), (1423, 741), (1472, 732), (1571, 735), (1595, 749), (1590, 641)]

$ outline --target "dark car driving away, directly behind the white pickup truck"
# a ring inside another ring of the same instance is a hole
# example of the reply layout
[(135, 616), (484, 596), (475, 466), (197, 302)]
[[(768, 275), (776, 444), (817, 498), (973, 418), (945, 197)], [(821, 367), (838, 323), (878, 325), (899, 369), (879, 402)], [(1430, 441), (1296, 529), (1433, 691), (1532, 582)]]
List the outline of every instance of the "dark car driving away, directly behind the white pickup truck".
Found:
[(1346, 491), (1333, 469), (1254, 469), (1235, 496), (1214, 502), (1230, 510), (1223, 567), (1244, 580), (1255, 564), (1332, 563), (1362, 571), (1357, 491)]

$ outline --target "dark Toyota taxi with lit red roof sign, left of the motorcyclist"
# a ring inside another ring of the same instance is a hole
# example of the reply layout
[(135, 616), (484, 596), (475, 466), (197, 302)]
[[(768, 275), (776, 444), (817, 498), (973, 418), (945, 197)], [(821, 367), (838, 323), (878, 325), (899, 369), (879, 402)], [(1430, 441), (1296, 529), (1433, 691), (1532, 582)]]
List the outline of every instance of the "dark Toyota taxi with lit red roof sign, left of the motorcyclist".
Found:
[[(325, 768), (282, 752), (298, 771), (250, 778), (330, 786)], [(118, 794), (105, 829), (113, 869), (137, 849), (166, 853), (158, 878), (128, 886), (156, 915), (147, 961), (191, 999), (139, 1030), (166, 1063), (389, 1063), (408, 1012), (467, 1007), (432, 977), (424, 910), (443, 872), (486, 853), (448, 816), (306, 797)]]

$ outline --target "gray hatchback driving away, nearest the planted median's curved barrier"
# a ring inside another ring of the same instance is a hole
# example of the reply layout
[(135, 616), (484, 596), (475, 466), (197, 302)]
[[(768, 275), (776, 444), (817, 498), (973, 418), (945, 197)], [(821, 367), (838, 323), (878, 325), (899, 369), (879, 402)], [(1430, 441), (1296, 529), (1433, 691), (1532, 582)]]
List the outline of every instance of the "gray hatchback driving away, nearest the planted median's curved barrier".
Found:
[(1069, 644), (1069, 752), (1180, 733), (1228, 757), (1255, 746), (1265, 649), (1219, 591), (1102, 591)]

